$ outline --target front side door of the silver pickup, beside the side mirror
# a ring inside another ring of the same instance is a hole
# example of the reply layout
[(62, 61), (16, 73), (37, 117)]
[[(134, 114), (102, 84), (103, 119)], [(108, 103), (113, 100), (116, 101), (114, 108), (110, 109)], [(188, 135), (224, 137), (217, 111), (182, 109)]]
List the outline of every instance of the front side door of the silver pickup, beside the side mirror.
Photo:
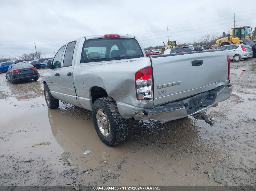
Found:
[(51, 94), (56, 99), (63, 100), (63, 101), (64, 101), (64, 97), (60, 87), (60, 70), (61, 70), (61, 65), (62, 65), (61, 63), (62, 63), (62, 57), (63, 57), (65, 46), (62, 46), (58, 50), (58, 52), (56, 53), (52, 61), (52, 68), (49, 68), (47, 71), (47, 85), (51, 91)]

